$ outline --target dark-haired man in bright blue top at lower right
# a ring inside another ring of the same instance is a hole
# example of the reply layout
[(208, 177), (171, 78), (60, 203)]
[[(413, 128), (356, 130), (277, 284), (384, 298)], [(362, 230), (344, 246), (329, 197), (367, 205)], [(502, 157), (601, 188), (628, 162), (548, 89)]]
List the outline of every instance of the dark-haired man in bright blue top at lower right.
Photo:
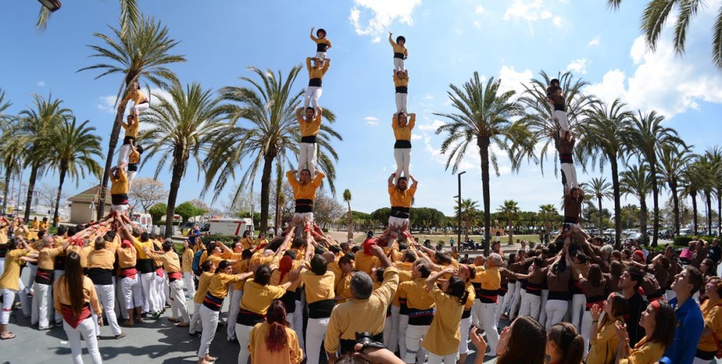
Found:
[(677, 297), (669, 301), (669, 306), (674, 308), (677, 327), (674, 329), (674, 341), (664, 352), (666, 363), (692, 363), (695, 358), (705, 322), (700, 306), (691, 298), (702, 283), (702, 272), (692, 266), (687, 266), (674, 278), (672, 290)]

